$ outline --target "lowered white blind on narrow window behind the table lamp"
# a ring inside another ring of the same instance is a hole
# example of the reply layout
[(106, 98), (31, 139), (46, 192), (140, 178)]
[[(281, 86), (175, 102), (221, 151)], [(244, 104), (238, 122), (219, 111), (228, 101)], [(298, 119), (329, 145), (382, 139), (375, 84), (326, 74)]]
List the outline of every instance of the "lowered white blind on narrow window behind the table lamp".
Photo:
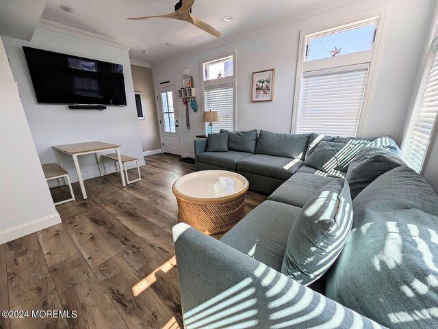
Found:
[[(233, 130), (233, 85), (205, 88), (204, 103), (205, 111), (218, 111), (219, 122), (213, 122), (213, 133), (220, 129)], [(208, 124), (205, 131), (210, 133)]]

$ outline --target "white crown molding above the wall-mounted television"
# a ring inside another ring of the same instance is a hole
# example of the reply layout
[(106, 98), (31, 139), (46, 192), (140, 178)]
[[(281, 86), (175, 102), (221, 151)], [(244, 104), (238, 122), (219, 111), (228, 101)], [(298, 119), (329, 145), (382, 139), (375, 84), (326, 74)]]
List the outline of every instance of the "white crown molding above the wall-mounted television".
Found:
[(131, 48), (126, 44), (122, 44), (121, 42), (118, 42), (118, 40), (116, 39), (108, 38), (106, 36), (101, 36), (99, 34), (95, 34), (88, 31), (83, 31), (81, 29), (76, 29), (75, 27), (70, 27), (60, 23), (47, 21), (47, 19), (41, 18), (40, 21), (38, 22), (38, 27), (41, 27), (42, 29), (48, 29), (50, 31), (70, 34), (71, 36), (77, 36), (79, 38), (92, 40), (94, 42), (99, 42), (101, 44), (106, 44), (107, 46), (112, 46), (119, 49), (129, 50)]

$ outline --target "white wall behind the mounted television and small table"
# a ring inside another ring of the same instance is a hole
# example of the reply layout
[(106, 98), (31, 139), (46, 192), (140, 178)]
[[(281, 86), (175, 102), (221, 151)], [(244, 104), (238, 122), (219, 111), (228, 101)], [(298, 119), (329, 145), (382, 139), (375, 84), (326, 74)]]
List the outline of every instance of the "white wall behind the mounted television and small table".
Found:
[[(3, 43), (14, 79), (18, 81), (21, 102), (41, 163), (57, 162), (51, 148), (53, 145), (91, 141), (120, 144), (123, 154), (143, 160), (127, 50), (40, 27), (36, 29), (31, 42), (3, 37)], [(127, 106), (109, 106), (104, 111), (96, 111), (71, 110), (66, 105), (38, 104), (22, 46), (123, 64)], [(73, 181), (77, 181), (71, 157), (63, 155), (62, 161)], [(99, 166), (94, 155), (80, 157), (79, 163), (84, 179), (99, 176)], [(114, 165), (110, 163), (108, 169), (114, 169)]]

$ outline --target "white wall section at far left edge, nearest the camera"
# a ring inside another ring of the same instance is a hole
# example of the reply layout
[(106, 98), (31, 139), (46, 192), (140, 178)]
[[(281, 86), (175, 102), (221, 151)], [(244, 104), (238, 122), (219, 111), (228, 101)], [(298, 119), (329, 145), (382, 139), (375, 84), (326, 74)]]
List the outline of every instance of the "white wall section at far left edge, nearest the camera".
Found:
[(61, 222), (0, 39), (0, 244)]

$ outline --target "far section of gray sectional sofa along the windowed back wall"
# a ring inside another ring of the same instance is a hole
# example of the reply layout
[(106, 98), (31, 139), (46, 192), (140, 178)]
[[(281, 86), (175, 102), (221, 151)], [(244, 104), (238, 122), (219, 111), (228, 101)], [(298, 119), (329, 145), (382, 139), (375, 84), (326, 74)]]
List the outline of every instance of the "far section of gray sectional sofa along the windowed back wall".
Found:
[[(225, 131), (221, 131), (224, 133)], [(208, 152), (207, 139), (194, 141), (196, 170), (230, 170), (248, 179), (250, 189), (263, 194), (271, 194), (277, 187), (297, 172), (307, 172), (322, 176), (345, 177), (346, 170), (337, 168), (313, 168), (306, 161), (321, 142), (335, 142), (357, 148), (356, 142), (370, 142), (370, 146), (380, 144), (400, 153), (391, 137), (344, 138), (318, 135), (272, 133), (257, 130), (229, 132), (228, 150)]]

